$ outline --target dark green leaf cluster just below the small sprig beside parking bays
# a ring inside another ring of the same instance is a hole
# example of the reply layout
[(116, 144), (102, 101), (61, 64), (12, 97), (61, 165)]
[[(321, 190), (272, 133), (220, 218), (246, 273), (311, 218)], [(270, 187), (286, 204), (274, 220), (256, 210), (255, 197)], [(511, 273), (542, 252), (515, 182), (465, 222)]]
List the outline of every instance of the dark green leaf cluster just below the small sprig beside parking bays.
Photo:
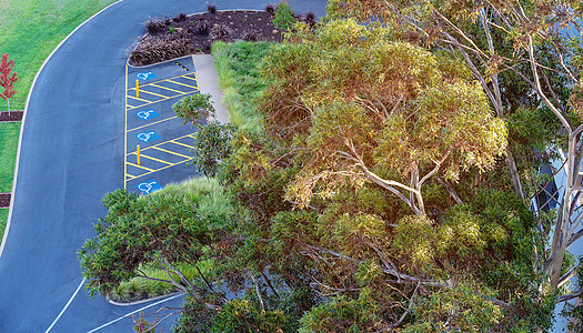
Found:
[(232, 124), (211, 121), (194, 133), (192, 163), (197, 165), (199, 172), (207, 176), (217, 175), (221, 161), (231, 155), (230, 141), (234, 131)]

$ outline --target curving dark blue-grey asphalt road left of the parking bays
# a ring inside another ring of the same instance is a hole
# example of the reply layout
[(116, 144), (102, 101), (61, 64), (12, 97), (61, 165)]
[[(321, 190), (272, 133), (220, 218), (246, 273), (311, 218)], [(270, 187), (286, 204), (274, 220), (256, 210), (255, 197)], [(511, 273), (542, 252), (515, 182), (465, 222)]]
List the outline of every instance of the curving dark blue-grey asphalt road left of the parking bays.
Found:
[[(218, 9), (267, 4), (212, 2)], [(325, 6), (324, 0), (289, 2), (296, 12), (318, 16)], [(127, 50), (144, 33), (149, 17), (204, 10), (203, 0), (121, 1), (73, 33), (38, 75), (0, 258), (0, 332), (133, 332), (131, 320), (109, 323), (153, 303), (115, 306), (90, 300), (82, 289), (76, 294), (82, 281), (76, 252), (105, 213), (103, 194), (123, 186)], [(143, 312), (179, 304), (174, 299)]]

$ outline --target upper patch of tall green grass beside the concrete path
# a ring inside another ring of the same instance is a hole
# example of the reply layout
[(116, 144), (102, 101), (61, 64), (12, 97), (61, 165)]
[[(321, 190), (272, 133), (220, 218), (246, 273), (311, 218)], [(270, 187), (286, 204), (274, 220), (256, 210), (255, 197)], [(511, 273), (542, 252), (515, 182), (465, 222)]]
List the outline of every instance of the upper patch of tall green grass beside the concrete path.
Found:
[(259, 72), (259, 65), (272, 42), (212, 44), (212, 56), (223, 90), (223, 102), (231, 115), (231, 122), (240, 129), (261, 131), (262, 117), (257, 111), (257, 99), (269, 85)]

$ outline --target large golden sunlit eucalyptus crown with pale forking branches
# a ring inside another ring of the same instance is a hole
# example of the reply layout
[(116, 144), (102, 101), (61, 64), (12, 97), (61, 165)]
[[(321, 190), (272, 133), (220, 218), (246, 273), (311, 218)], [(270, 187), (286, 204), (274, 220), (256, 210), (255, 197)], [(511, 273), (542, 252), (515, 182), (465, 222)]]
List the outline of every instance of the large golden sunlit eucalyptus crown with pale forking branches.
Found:
[[(468, 70), (391, 36), (379, 24), (330, 21), (299, 30), (267, 58), (267, 132), (306, 150), (289, 200), (306, 205), (314, 194), (328, 199), (364, 181), (395, 193), (402, 182), (416, 189), (405, 190), (416, 198), (404, 201), (424, 213), (420, 189), (433, 169), (458, 180), (470, 168), (492, 169), (504, 153), (505, 124)], [(390, 180), (378, 176), (391, 172)]]

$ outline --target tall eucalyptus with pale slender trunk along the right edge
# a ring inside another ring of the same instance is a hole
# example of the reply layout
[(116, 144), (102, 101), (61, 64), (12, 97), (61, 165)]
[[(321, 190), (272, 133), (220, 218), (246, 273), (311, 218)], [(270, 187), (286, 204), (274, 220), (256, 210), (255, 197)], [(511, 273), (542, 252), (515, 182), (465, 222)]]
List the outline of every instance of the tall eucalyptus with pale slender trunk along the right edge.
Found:
[[(559, 0), (333, 0), (329, 6), (333, 17), (374, 18), (392, 24), (401, 38), (445, 50), (464, 61), (499, 118), (511, 117), (519, 99), (529, 99), (537, 111), (554, 117), (550, 127), (556, 129), (557, 138), (547, 142), (547, 149), (564, 152), (566, 180), (550, 251), (540, 266), (555, 289), (579, 269), (569, 270), (563, 263), (569, 246), (583, 235), (583, 214), (577, 212), (583, 150), (581, 4)], [(512, 160), (507, 153), (516, 194), (526, 202), (532, 193), (524, 193)], [(580, 294), (575, 291), (559, 300)]]

